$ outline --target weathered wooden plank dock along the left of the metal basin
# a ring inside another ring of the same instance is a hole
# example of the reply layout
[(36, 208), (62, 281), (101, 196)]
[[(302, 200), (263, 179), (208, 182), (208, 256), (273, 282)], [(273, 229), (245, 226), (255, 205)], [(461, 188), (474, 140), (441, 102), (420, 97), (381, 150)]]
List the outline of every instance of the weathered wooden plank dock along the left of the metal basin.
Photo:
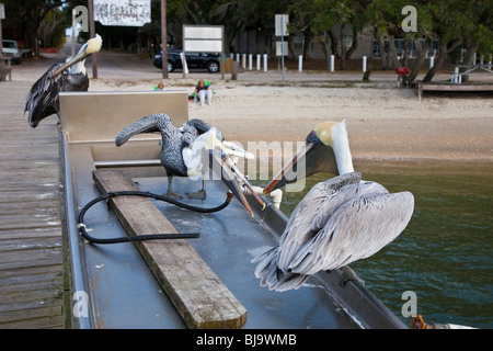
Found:
[(0, 82), (0, 328), (65, 328), (57, 118), (31, 128), (32, 81)]

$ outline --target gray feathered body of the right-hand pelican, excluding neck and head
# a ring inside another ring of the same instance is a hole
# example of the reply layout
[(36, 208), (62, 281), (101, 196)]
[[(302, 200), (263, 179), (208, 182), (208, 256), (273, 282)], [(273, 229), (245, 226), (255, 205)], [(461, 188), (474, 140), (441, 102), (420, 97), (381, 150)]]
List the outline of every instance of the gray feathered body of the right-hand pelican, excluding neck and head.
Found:
[(279, 245), (260, 261), (255, 276), (271, 290), (297, 288), (309, 275), (365, 259), (394, 240), (414, 211), (410, 192), (390, 194), (347, 173), (314, 185), (291, 214)]

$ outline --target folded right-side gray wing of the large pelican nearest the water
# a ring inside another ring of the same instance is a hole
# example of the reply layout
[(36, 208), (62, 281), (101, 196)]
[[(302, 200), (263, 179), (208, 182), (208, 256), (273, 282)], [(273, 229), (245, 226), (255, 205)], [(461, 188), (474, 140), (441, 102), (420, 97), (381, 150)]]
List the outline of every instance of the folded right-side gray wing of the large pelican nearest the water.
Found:
[(413, 210), (414, 197), (410, 192), (354, 199), (302, 246), (288, 269), (314, 274), (368, 258), (404, 230)]

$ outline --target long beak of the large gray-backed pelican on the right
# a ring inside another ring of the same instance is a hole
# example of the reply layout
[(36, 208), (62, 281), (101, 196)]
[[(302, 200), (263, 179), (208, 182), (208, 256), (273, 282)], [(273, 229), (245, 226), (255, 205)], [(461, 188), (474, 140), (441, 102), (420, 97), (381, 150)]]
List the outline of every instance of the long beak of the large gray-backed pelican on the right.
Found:
[(320, 171), (339, 176), (333, 148), (323, 144), (313, 131), (307, 136), (305, 144), (296, 151), (289, 162), (264, 188), (264, 194)]

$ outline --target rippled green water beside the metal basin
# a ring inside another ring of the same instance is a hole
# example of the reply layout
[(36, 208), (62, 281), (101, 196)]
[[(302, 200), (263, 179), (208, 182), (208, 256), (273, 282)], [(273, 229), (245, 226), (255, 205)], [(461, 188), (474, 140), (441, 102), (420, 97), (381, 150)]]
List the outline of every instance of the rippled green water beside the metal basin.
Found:
[[(493, 328), (493, 166), (365, 161), (355, 168), (365, 180), (415, 197), (408, 228), (371, 258), (351, 264), (366, 287), (408, 325), (402, 293), (413, 291), (425, 321)], [(282, 211), (289, 215), (311, 186), (330, 177), (312, 176), (305, 191), (285, 192)]]

